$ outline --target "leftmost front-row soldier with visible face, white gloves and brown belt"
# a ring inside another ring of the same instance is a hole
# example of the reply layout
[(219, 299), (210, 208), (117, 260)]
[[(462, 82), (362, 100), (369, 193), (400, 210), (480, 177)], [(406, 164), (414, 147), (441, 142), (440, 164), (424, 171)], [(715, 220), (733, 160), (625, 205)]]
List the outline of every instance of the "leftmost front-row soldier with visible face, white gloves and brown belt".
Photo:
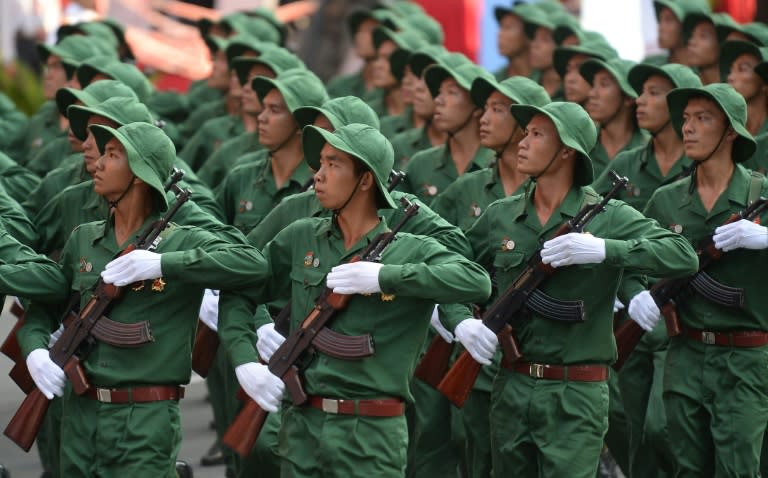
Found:
[[(99, 274), (108, 284), (127, 286), (110, 318), (146, 319), (154, 340), (138, 348), (99, 340), (92, 345), (83, 360), (91, 388), (82, 396), (67, 390), (64, 397), (61, 474), (175, 477), (178, 400), (191, 374), (203, 288), (253, 286), (266, 274), (265, 264), (249, 246), (175, 224), (160, 235), (157, 252), (138, 250), (113, 260), (167, 209), (163, 183), (175, 152), (162, 130), (146, 123), (91, 130), (102, 152), (94, 188), (109, 201), (111, 215), (73, 231), (60, 259), (59, 293), (81, 293), (82, 305)], [(54, 308), (33, 305), (19, 332), (30, 374), (49, 399), (61, 396), (65, 383), (47, 350), (48, 335), (59, 325), (54, 314)], [(131, 440), (125, 440), (126, 430)]]

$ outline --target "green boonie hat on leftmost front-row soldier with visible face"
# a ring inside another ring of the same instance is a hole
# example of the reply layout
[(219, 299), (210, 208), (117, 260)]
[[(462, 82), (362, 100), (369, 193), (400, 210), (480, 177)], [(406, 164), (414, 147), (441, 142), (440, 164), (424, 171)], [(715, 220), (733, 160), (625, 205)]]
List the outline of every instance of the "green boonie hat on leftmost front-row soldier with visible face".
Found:
[(155, 190), (160, 210), (168, 209), (164, 183), (176, 158), (176, 148), (168, 135), (149, 123), (130, 123), (118, 129), (91, 125), (90, 129), (101, 154), (112, 138), (123, 145), (131, 172)]

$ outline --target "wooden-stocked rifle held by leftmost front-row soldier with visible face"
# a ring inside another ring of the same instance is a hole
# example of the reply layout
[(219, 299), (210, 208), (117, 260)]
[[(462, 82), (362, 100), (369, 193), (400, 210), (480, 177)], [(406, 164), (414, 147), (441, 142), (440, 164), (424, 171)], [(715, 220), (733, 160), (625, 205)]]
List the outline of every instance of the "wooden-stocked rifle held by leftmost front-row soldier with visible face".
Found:
[[(171, 187), (176, 192), (176, 202), (173, 206), (162, 219), (152, 223), (135, 242), (122, 250), (117, 257), (137, 249), (152, 250), (157, 246), (160, 233), (168, 226), (173, 216), (192, 194), (188, 189), (179, 189), (175, 184)], [(67, 374), (72, 382), (72, 390), (78, 395), (84, 394), (90, 388), (80, 359), (87, 355), (87, 348), (94, 340), (91, 332), (110, 307), (120, 299), (123, 290), (123, 287), (104, 283), (99, 276), (99, 280), (93, 288), (91, 299), (83, 306), (77, 319), (68, 320), (70, 311), (65, 312), (62, 322), (67, 321), (69, 325), (65, 325), (61, 337), (50, 350), (50, 356), (51, 360)], [(5, 428), (5, 436), (24, 451), (29, 451), (43, 422), (49, 403), (45, 395), (39, 389), (34, 388), (11, 418)]]

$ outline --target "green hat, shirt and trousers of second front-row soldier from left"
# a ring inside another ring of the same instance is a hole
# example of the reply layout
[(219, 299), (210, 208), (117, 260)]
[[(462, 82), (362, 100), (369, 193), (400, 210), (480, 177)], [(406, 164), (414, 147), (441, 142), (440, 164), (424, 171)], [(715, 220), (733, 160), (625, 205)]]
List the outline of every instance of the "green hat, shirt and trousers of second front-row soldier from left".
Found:
[[(383, 186), (386, 173), (392, 167), (392, 150), (380, 133), (357, 124), (340, 128), (335, 133), (308, 127), (304, 137), (305, 151), (314, 167), (317, 167), (319, 151), (326, 140), (334, 147), (360, 157), (371, 167), (386, 207), (394, 206)], [(325, 288), (327, 272), (333, 266), (347, 262), (386, 230), (387, 224), (382, 220), (364, 238), (346, 249), (331, 218), (294, 222), (265, 248), (274, 280), (261, 295), (274, 297), (290, 288), (291, 326), (296, 327), (311, 309), (317, 293)], [(462, 256), (449, 252), (431, 238), (407, 233), (398, 237), (382, 255), (381, 262), (385, 264), (379, 274), (382, 294), (355, 295), (333, 322), (333, 329), (339, 333), (373, 332), (376, 353), (364, 360), (352, 361), (322, 354), (316, 357), (304, 370), (305, 388), (310, 395), (351, 400), (374, 397), (410, 400), (409, 382), (434, 302), (469, 301), (487, 296), (490, 288), (487, 276)], [(308, 255), (311, 256), (309, 260)], [(410, 262), (418, 262), (418, 265)], [(403, 274), (405, 269), (409, 270), (407, 277)], [(359, 321), (362, 314), (372, 314), (374, 322)], [(258, 326), (268, 320), (259, 318)], [(421, 325), (415, 322), (418, 318), (423, 319)], [(387, 326), (378, 327), (377, 323)], [(235, 364), (254, 360), (253, 330), (251, 324), (222, 316), (221, 336)], [(394, 477), (405, 472), (408, 439), (403, 416), (372, 418), (326, 414), (309, 407), (287, 407), (282, 420), (282, 476)], [(354, 441), (350, 440), (352, 434), (357, 437)]]

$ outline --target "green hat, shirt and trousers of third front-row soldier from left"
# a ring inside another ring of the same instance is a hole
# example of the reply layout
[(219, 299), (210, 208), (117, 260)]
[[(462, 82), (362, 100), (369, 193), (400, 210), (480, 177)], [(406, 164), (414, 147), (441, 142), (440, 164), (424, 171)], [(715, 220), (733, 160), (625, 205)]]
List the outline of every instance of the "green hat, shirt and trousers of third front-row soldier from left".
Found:
[[(534, 184), (527, 194), (493, 203), (467, 232), (476, 260), (496, 271), (499, 291), (522, 272), (542, 240), (586, 204), (599, 201), (591, 188), (584, 187), (592, 181), (586, 151), (596, 132), (581, 107), (572, 103), (542, 108), (513, 105), (512, 113), (522, 126), (536, 114), (553, 119), (561, 141), (574, 148), (580, 159), (572, 189), (545, 225), (539, 222), (532, 203)], [(605, 260), (559, 269), (539, 287), (559, 300), (583, 301), (586, 319), (566, 323), (529, 311), (524, 320), (514, 323), (526, 361), (609, 365), (616, 358), (612, 308), (623, 271), (681, 275), (695, 269), (693, 250), (684, 241), (620, 201), (611, 201), (586, 230), (606, 238)], [(598, 281), (604, 286), (594, 287)], [(639, 284), (632, 286), (640, 288)], [(639, 290), (622, 292), (630, 295)], [(453, 329), (457, 324), (447, 325)], [(493, 472), (499, 476), (592, 478), (607, 427), (604, 380), (542, 380), (501, 368), (491, 392)]]

